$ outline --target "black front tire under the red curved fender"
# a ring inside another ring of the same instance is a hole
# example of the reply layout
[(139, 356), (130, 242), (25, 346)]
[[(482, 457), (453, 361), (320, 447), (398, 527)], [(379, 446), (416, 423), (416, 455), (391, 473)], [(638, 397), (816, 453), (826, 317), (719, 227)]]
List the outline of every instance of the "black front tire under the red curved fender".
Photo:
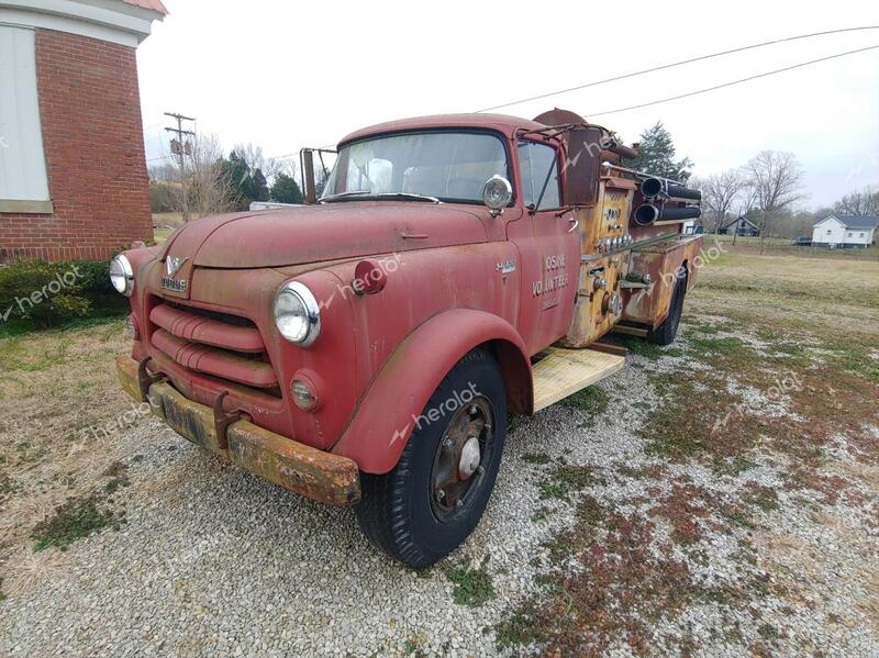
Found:
[[(453, 450), (448, 439), (455, 431), (453, 421), (467, 420), (461, 414), (469, 416), (476, 409), (465, 391), (478, 394), (471, 399), (487, 410), (486, 417), (490, 411), (491, 419), (490, 425), (485, 422), (488, 430), (480, 433), (481, 472), (477, 469), (458, 484), (467, 488), (466, 493), (445, 513), (437, 508), (443, 499), (435, 493), (435, 473), (441, 455), (449, 455), (443, 450)], [(463, 404), (452, 410), (453, 400)], [(381, 476), (360, 473), (363, 499), (356, 508), (369, 542), (413, 569), (430, 567), (457, 548), (479, 523), (491, 497), (507, 437), (507, 394), (494, 358), (481, 348), (467, 354), (434, 391), (422, 419), (429, 419), (431, 410), (446, 412), (434, 422), (416, 424), (393, 470)]]

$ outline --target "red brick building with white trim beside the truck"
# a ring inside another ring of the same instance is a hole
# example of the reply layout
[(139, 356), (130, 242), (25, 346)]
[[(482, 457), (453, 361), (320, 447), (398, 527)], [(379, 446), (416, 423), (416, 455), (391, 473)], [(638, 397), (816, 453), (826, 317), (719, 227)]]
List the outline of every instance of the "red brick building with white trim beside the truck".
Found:
[(0, 263), (153, 233), (135, 49), (160, 0), (0, 0)]

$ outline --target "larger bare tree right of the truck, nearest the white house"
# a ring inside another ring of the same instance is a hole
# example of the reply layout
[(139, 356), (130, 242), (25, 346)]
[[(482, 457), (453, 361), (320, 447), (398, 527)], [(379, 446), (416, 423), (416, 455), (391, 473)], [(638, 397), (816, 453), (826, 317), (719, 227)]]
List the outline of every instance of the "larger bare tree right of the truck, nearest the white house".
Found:
[(745, 165), (748, 186), (760, 210), (760, 254), (771, 219), (802, 198), (803, 171), (792, 153), (761, 150)]

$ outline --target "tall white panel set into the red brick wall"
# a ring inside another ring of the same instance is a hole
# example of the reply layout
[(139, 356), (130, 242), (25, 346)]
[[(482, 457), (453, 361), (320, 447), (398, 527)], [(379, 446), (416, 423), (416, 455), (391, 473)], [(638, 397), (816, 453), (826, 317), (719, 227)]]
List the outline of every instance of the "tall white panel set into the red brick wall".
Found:
[(0, 25), (0, 200), (49, 200), (34, 31), (8, 25)]

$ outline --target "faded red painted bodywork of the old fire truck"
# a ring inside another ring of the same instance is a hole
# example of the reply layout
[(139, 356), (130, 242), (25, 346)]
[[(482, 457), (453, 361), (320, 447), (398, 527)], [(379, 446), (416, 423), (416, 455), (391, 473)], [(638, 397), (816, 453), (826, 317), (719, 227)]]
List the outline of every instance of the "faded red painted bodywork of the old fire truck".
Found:
[[(346, 469), (356, 470), (356, 462), (366, 472), (387, 472), (408, 440), (407, 425), (456, 360), (478, 345), (491, 346), (497, 355), (511, 409), (527, 413), (533, 409), (530, 357), (559, 339), (579, 347), (610, 331), (620, 320), (611, 312), (613, 293), (623, 300), (624, 317), (648, 325), (661, 321), (668, 290), (660, 283), (646, 293), (623, 290), (620, 282), (638, 267), (656, 270), (660, 281), (669, 268), (692, 261), (696, 241), (659, 256), (643, 249), (631, 259), (625, 246), (610, 254), (599, 249), (608, 238), (680, 231), (680, 225), (628, 226), (636, 183), (625, 174), (597, 171), (598, 181), (586, 186), (597, 190), (594, 203), (526, 209), (515, 157), (520, 140), (556, 148), (560, 161), (568, 156), (565, 140), (541, 132), (545, 125), (456, 115), (374, 126), (346, 140), (456, 126), (493, 131), (504, 140), (516, 193), (502, 215), (491, 216), (479, 204), (352, 201), (204, 218), (176, 232), (162, 249), (127, 253), (136, 272), (132, 311), (143, 328), (133, 354), (151, 357), (151, 369), (167, 376), (166, 384), (151, 390), (168, 393), (159, 397), (158, 410), (169, 424), (222, 453), (216, 417), (244, 413), (275, 437), (249, 433), (242, 440), (237, 458), (245, 468), (282, 487), (311, 491), (325, 481), (312, 477), (316, 462), (309, 457), (301, 475), (301, 454), (275, 448), (308, 447), (326, 458), (347, 458)], [(569, 174), (560, 172), (563, 186)], [(186, 258), (177, 275), (187, 280), (185, 292), (162, 288), (169, 255)], [(351, 290), (365, 257), (393, 260), (381, 294)], [(607, 281), (601, 290), (594, 288), (598, 267)], [(271, 317), (276, 291), (291, 279), (308, 286), (322, 308), (321, 335), (307, 349), (285, 341)], [(690, 287), (693, 280), (691, 272)], [(120, 370), (123, 387), (129, 369)], [(301, 371), (319, 376), (321, 404), (312, 412), (291, 399), (290, 382)], [(210, 405), (224, 391), (229, 394), (211, 415)], [(241, 423), (230, 425), (227, 437)]]

